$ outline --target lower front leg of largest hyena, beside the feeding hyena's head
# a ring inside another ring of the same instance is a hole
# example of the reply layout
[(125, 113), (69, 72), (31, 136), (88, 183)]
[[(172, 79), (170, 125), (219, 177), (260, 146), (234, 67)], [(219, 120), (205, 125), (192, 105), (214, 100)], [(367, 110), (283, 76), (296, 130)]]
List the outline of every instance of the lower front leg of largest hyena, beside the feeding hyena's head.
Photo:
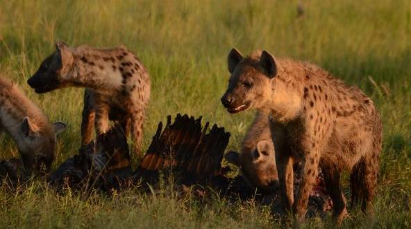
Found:
[(281, 201), (285, 210), (291, 210), (292, 204), (294, 203), (294, 171), (290, 152), (276, 154), (276, 164), (278, 181), (280, 183)]

